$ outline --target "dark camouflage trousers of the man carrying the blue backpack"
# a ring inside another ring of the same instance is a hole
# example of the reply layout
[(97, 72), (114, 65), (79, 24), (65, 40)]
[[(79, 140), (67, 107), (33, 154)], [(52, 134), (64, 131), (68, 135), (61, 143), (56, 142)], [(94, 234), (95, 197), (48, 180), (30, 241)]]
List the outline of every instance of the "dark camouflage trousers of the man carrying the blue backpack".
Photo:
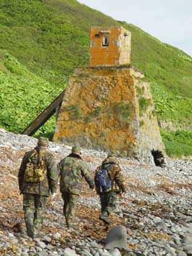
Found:
[(111, 214), (116, 211), (116, 193), (104, 192), (100, 195), (101, 212)]

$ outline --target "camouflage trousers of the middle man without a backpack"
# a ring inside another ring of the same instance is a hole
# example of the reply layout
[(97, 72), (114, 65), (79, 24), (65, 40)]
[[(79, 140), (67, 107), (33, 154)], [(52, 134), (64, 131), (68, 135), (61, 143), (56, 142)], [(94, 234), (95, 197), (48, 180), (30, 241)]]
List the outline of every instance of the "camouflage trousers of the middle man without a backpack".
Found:
[(68, 189), (62, 192), (64, 200), (63, 214), (65, 216), (67, 226), (73, 225), (76, 217), (76, 205), (79, 195), (70, 193)]

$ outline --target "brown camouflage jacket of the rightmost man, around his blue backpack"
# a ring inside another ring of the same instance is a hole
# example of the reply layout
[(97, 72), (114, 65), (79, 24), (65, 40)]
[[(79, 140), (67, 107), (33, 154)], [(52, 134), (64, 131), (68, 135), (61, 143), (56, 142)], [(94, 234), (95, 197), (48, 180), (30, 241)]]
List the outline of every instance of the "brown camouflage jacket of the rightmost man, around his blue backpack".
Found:
[[(108, 157), (102, 162), (102, 165), (108, 168), (108, 175), (110, 179), (113, 181), (113, 186), (108, 190), (106, 190), (105, 192), (109, 192), (109, 191), (115, 191), (116, 193), (120, 193), (121, 191), (125, 192), (126, 186), (125, 186), (124, 175), (122, 173), (120, 166), (116, 163), (116, 159), (113, 157)], [(101, 166), (97, 167), (95, 174), (100, 169), (100, 167)], [(100, 188), (97, 186), (96, 186), (96, 191), (98, 194), (100, 194)]]

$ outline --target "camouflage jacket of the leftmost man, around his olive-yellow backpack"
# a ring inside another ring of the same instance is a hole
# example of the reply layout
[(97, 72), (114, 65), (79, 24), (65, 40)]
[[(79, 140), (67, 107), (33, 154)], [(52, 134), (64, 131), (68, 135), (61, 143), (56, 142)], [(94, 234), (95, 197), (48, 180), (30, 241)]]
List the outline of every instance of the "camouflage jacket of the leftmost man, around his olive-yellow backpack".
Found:
[[(30, 156), (33, 154), (34, 150), (44, 150), (43, 157), (45, 164), (47, 166), (47, 177), (45, 177), (42, 182), (26, 182), (24, 180), (24, 172), (26, 169), (26, 164), (29, 161)], [(49, 195), (49, 192), (55, 193), (58, 184), (58, 170), (56, 166), (56, 161), (51, 153), (47, 152), (43, 148), (34, 148), (33, 150), (26, 152), (22, 159), (19, 169), (19, 189), (20, 193), (29, 194), (39, 194), (39, 195)]]

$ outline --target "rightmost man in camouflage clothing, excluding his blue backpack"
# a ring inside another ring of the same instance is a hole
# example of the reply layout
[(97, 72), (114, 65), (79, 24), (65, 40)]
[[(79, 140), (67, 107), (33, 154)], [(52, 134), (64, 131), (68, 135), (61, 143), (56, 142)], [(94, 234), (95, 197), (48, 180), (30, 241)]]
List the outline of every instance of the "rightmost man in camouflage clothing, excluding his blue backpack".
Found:
[[(109, 178), (112, 180), (112, 186), (106, 191), (101, 191), (95, 180), (96, 191), (100, 196), (101, 204), (101, 215), (99, 219), (109, 225), (109, 214), (116, 211), (116, 194), (124, 193), (126, 191), (126, 186), (123, 173), (114, 154), (108, 154), (108, 157), (102, 162), (102, 166), (108, 170)], [(97, 167), (95, 175), (102, 166)]]

